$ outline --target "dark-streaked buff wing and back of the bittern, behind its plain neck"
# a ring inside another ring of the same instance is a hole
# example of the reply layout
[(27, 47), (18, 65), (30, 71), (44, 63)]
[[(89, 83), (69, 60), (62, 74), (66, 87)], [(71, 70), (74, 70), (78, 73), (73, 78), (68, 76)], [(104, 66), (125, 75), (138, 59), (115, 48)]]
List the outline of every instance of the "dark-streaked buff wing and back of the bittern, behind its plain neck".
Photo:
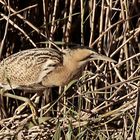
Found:
[[(62, 53), (51, 48), (36, 48), (13, 54), (0, 63), (0, 86), (43, 88), (40, 82), (63, 61)], [(35, 86), (34, 86), (35, 85)]]

